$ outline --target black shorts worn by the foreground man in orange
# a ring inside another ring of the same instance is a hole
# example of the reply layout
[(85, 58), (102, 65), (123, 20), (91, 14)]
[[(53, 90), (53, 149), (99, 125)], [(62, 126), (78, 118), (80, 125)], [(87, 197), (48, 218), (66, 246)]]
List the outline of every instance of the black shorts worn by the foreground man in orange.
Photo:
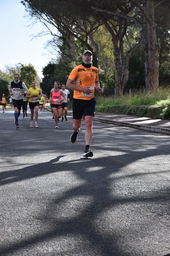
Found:
[(96, 100), (73, 99), (73, 118), (82, 119), (82, 116), (94, 116)]

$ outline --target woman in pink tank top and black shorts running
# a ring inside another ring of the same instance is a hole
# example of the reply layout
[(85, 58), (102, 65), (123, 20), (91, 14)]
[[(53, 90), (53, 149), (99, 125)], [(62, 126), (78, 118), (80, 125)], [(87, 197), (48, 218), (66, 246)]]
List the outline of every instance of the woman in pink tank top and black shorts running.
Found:
[[(65, 95), (62, 90), (59, 90), (60, 84), (59, 82), (54, 82), (54, 88), (50, 91), (50, 101), (51, 101), (51, 109), (54, 113), (54, 120), (56, 123), (55, 128), (59, 128), (58, 119), (62, 115), (62, 104), (61, 102), (65, 99)], [(61, 95), (64, 99), (61, 100)]]

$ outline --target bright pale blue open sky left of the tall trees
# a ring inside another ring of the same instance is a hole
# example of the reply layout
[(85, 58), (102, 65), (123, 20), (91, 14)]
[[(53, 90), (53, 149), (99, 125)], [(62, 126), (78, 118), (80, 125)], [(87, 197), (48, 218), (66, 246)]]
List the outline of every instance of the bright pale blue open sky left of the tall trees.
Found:
[(4, 65), (30, 63), (42, 78), (42, 68), (55, 58), (45, 49), (51, 36), (32, 39), (31, 35), (44, 31), (44, 27), (40, 22), (28, 27), (31, 21), (26, 17), (28, 13), (20, 1), (0, 0), (0, 70), (5, 71)]

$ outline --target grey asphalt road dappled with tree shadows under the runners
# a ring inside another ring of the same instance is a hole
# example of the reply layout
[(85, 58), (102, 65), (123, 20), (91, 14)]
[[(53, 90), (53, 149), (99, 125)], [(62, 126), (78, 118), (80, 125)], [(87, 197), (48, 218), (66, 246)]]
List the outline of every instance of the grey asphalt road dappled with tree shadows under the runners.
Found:
[(170, 138), (94, 122), (70, 143), (72, 117), (0, 113), (0, 256), (170, 253)]

